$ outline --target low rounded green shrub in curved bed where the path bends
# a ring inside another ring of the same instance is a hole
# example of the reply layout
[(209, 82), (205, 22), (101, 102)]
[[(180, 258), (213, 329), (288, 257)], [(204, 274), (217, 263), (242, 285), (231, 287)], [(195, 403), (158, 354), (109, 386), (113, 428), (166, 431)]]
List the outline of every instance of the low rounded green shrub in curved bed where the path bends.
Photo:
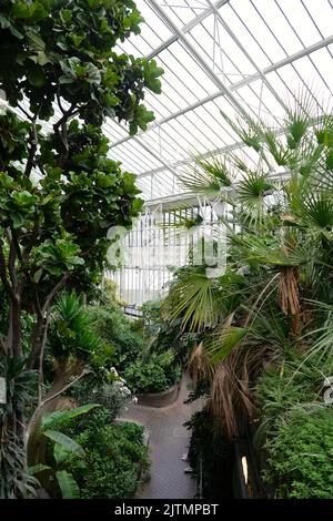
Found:
[(171, 351), (150, 354), (148, 360), (137, 359), (124, 370), (127, 384), (134, 392), (161, 392), (179, 381), (180, 375)]

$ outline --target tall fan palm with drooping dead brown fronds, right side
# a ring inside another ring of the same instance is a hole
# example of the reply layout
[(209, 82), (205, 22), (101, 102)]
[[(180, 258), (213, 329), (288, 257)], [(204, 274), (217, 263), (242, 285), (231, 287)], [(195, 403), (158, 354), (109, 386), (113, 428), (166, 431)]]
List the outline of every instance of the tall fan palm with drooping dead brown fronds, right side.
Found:
[[(315, 341), (324, 318), (310, 300), (332, 304), (333, 116), (317, 116), (314, 106), (301, 94), (278, 132), (222, 114), (258, 155), (258, 168), (199, 157), (183, 176), (188, 187), (209, 191), (231, 210), (232, 222), (220, 215), (226, 270), (216, 277), (205, 265), (180, 272), (162, 313), (183, 331), (201, 333), (190, 367), (210, 380), (210, 407), (230, 437), (253, 415), (251, 389), (264, 367), (285, 349)], [(284, 172), (276, 175), (278, 168)]]

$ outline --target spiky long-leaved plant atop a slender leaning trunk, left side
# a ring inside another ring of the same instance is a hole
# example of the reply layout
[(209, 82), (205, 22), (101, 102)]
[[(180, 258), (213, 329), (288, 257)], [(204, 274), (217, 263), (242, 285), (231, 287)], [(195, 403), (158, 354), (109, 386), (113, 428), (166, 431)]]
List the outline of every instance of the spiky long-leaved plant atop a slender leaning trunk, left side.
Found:
[[(57, 408), (60, 395), (68, 390), (71, 396), (79, 396), (80, 405), (93, 401), (98, 392), (100, 400), (110, 401), (115, 399), (113, 387), (121, 384), (114, 367), (112, 367), (109, 346), (98, 335), (93, 318), (80, 298), (72, 292), (62, 294), (52, 307), (50, 327), (47, 341), (46, 361), (49, 361), (48, 371), (40, 370), (40, 395), (43, 388), (48, 391), (39, 400), (29, 422), (28, 459), (38, 453), (39, 429), (43, 417), (48, 411)], [(112, 353), (112, 349), (111, 349)], [(83, 387), (82, 387), (83, 386)], [(109, 389), (109, 390), (108, 390)], [(118, 387), (122, 394), (125, 387)], [(84, 390), (82, 396), (80, 392)], [(87, 400), (82, 401), (85, 396)], [(108, 399), (109, 396), (109, 399)], [(114, 406), (124, 401), (115, 399)], [(110, 405), (111, 405), (110, 403)]]

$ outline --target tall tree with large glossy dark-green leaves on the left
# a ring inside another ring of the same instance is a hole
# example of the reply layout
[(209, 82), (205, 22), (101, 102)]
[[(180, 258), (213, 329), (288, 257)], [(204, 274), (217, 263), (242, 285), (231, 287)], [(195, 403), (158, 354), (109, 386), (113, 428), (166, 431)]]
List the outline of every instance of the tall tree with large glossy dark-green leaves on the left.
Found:
[[(141, 21), (132, 0), (1, 2), (0, 89), (9, 105), (0, 115), (1, 351), (27, 369), (41, 372), (57, 295), (99, 283), (108, 228), (130, 227), (142, 205), (102, 132), (107, 116), (128, 122), (131, 134), (153, 120), (142, 101), (145, 90), (160, 92), (162, 69), (117, 52)], [(24, 354), (23, 310), (34, 316)]]

